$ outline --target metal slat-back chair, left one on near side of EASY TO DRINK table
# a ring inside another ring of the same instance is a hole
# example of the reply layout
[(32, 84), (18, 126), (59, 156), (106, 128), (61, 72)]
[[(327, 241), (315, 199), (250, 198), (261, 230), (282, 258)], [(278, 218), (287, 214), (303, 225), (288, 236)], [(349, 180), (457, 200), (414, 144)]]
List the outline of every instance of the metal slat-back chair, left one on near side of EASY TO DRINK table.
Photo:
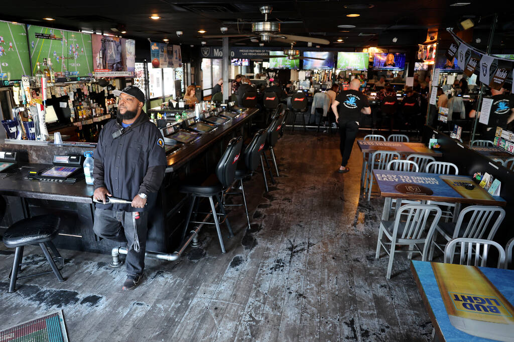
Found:
[[(427, 222), (431, 221), (430, 228), (426, 230)], [(377, 250), (375, 259), (380, 256), (380, 248), (383, 247), (389, 255), (387, 279), (391, 278), (393, 259), (395, 253), (420, 253), (421, 260), (427, 260), (430, 241), (435, 231), (435, 226), (441, 217), (441, 210), (436, 205), (429, 204), (408, 204), (402, 206), (397, 212), (394, 221), (380, 221), (378, 231)], [(389, 242), (383, 242), (382, 237), (386, 236)], [(397, 251), (396, 245), (409, 245), (406, 251)], [(423, 245), (423, 250), (418, 245)], [(389, 250), (388, 250), (389, 245)], [(416, 248), (416, 250), (413, 250)]]

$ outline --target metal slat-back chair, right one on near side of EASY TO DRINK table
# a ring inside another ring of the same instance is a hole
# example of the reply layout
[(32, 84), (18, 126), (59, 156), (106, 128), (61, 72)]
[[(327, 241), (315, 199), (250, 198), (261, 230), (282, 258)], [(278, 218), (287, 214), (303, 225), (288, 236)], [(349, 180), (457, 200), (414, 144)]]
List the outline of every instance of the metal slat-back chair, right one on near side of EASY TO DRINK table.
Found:
[[(496, 215), (498, 217), (494, 220)], [(434, 248), (444, 252), (443, 244), (437, 244), (438, 234), (448, 242), (459, 237), (482, 239), (486, 232), (489, 232), (487, 240), (492, 240), (504, 218), (505, 210), (499, 206), (470, 205), (464, 208), (458, 214), (457, 222), (439, 222), (437, 224), (430, 246), (429, 259), (432, 260)]]

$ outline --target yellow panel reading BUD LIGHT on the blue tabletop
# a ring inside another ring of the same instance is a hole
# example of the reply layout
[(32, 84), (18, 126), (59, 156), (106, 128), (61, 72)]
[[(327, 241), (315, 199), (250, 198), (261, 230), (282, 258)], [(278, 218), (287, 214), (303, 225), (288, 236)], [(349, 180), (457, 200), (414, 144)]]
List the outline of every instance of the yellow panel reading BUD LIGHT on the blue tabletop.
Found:
[(476, 267), (432, 263), (451, 324), (470, 335), (514, 341), (514, 308)]

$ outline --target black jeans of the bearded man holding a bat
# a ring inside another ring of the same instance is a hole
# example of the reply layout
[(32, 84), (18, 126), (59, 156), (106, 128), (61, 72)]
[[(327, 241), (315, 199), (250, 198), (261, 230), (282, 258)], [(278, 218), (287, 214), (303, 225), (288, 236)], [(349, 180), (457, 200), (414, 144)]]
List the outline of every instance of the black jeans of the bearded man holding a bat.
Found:
[[(132, 213), (96, 208), (95, 234), (105, 239), (126, 242), (128, 253), (125, 258), (127, 275), (136, 277), (143, 274), (144, 252), (146, 250), (146, 234), (148, 233), (148, 212), (139, 212), (136, 219), (139, 252), (134, 251), (134, 224)], [(123, 230), (123, 232), (122, 232)]]

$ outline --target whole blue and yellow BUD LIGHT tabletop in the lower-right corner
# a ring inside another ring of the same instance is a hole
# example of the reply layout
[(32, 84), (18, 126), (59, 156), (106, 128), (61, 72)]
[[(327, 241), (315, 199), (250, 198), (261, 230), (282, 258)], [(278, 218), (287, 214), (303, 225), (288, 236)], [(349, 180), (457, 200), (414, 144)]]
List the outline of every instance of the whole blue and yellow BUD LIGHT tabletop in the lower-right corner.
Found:
[[(500, 340), (507, 340), (504, 336), (512, 340), (514, 271), (417, 260), (411, 260), (411, 271), (432, 320), (434, 340), (490, 341), (486, 337), (493, 334)], [(462, 296), (468, 300), (465, 306)], [(487, 313), (483, 306), (479, 307), (481, 312), (476, 310), (476, 303), (481, 302), (486, 302)], [(489, 303), (492, 308), (487, 309)], [(464, 315), (469, 319), (466, 327), (459, 318)], [(503, 322), (491, 326), (485, 321), (491, 318)]]

